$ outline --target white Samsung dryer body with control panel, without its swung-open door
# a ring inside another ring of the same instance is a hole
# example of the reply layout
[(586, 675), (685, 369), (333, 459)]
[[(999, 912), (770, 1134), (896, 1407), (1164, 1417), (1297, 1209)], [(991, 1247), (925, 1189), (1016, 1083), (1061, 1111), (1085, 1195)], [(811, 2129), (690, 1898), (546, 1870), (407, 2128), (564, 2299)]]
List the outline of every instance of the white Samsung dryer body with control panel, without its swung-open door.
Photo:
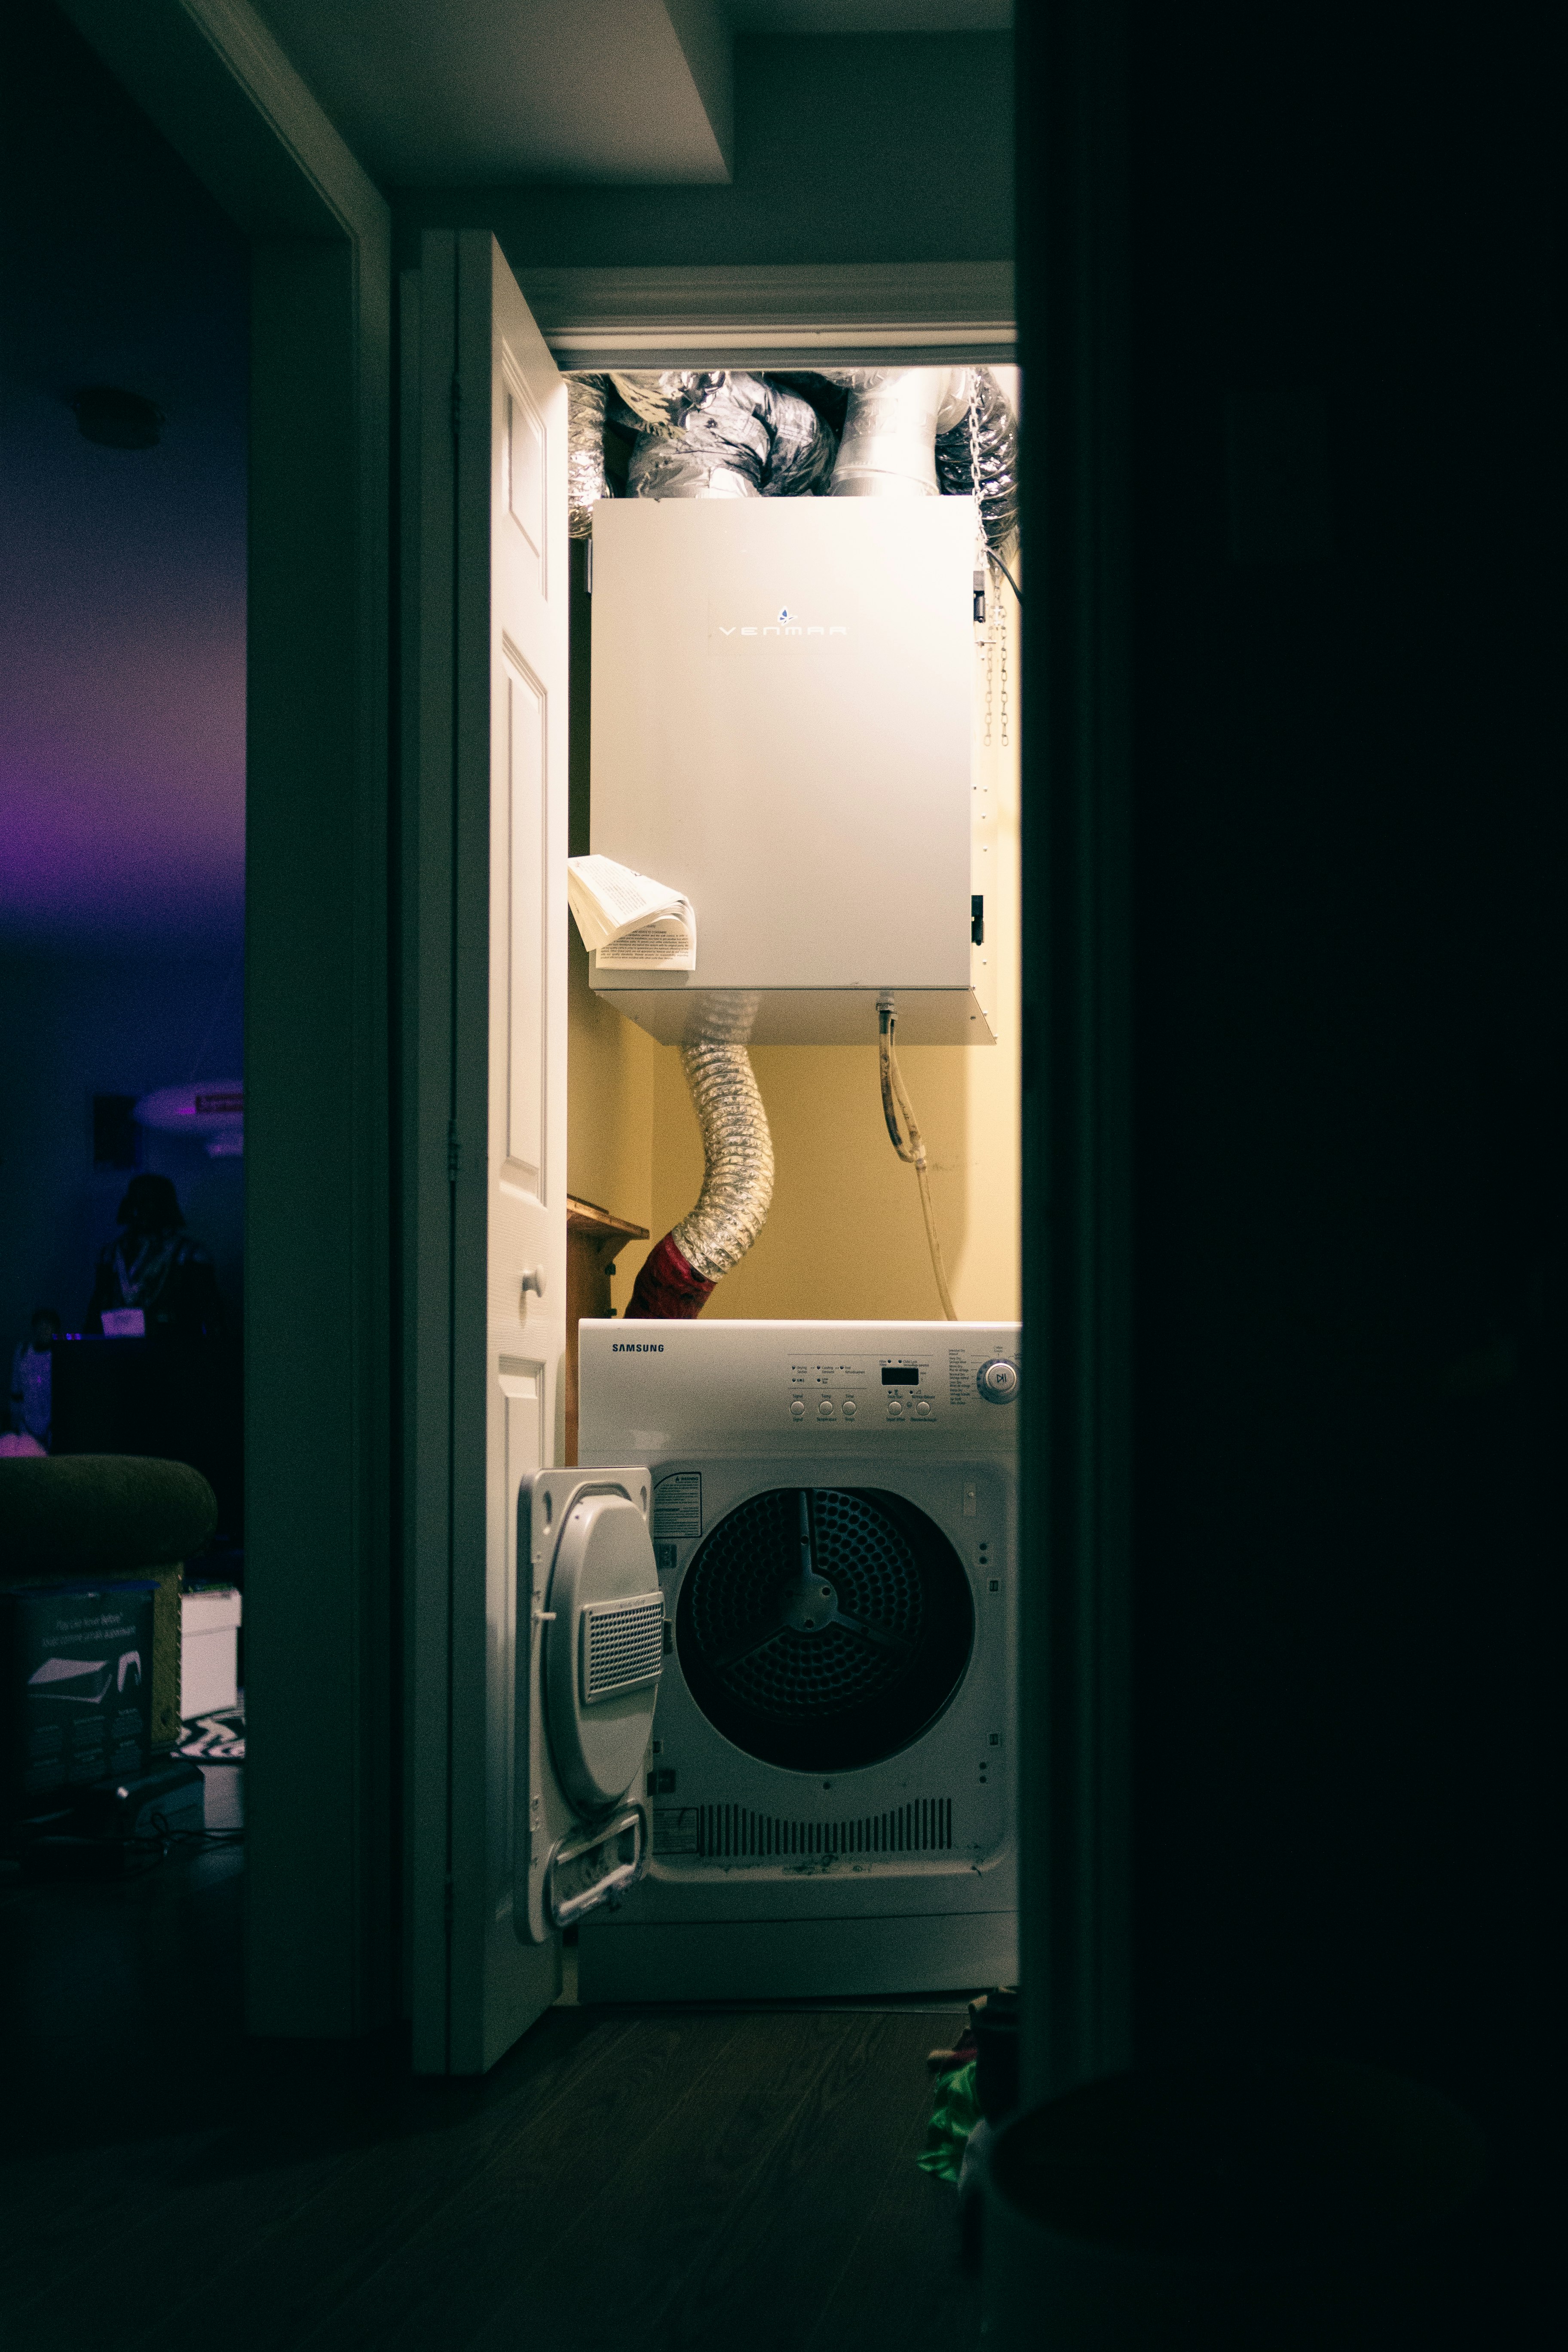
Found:
[(1018, 1378), (980, 1374), (1018, 1327), (578, 1336), (581, 1463), (646, 1461), (665, 1595), (651, 1867), (583, 1922), (581, 1997), (1013, 1980)]

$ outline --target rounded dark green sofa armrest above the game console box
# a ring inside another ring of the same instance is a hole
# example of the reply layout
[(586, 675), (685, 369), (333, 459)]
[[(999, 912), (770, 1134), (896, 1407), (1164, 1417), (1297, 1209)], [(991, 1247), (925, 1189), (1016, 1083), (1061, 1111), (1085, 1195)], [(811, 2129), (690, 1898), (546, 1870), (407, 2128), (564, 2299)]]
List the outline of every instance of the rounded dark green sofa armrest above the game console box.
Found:
[(219, 1505), (200, 1470), (141, 1454), (0, 1461), (0, 1581), (160, 1569), (212, 1538)]

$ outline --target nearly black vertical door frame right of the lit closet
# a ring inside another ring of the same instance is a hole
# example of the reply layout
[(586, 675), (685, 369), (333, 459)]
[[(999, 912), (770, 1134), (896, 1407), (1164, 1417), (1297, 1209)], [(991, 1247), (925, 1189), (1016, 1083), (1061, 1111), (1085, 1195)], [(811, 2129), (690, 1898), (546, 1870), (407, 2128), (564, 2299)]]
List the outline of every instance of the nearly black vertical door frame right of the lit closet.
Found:
[(1124, 0), (1018, 12), (1025, 2103), (1135, 2018), (1126, 47)]

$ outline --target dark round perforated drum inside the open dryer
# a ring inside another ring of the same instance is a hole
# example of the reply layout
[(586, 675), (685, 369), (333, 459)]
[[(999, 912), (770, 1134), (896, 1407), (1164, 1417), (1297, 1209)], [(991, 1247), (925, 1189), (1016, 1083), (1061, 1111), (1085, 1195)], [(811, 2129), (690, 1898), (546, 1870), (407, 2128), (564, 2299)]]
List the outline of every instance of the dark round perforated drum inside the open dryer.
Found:
[(675, 1613), (708, 1722), (790, 1771), (849, 1771), (917, 1740), (964, 1679), (973, 1630), (959, 1555), (877, 1486), (750, 1496), (698, 1548)]

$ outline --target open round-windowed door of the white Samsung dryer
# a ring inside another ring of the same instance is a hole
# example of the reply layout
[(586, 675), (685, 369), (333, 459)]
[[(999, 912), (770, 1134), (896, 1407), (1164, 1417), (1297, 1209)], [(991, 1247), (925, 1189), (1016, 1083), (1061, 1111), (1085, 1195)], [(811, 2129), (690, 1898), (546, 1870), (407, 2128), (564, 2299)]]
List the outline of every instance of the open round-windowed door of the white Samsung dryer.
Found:
[[(644, 1757), (665, 1651), (646, 1470), (541, 1470), (517, 1496), (529, 1646), (517, 1644), (512, 1929), (548, 1943), (635, 1886), (649, 1856)], [(520, 1806), (522, 1811), (522, 1806)]]

